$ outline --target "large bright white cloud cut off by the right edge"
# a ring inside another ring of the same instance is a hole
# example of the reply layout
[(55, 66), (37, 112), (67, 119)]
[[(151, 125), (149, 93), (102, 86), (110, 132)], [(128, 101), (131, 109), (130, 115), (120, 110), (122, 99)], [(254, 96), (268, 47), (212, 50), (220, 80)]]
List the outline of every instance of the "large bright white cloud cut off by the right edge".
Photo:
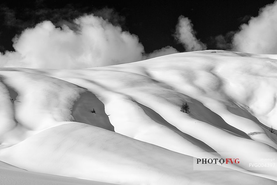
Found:
[(277, 54), (277, 1), (261, 8), (257, 17), (243, 24), (234, 35), (234, 51)]

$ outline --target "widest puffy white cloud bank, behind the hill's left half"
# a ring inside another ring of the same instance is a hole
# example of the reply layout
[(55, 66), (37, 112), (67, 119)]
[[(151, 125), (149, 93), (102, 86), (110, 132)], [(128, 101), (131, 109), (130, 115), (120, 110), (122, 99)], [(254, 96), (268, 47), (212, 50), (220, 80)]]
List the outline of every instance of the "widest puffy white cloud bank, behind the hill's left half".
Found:
[(0, 55), (1, 67), (76, 69), (131, 63), (178, 53), (171, 46), (144, 53), (138, 37), (108, 19), (83, 15), (56, 27), (43, 21), (13, 39), (14, 52)]

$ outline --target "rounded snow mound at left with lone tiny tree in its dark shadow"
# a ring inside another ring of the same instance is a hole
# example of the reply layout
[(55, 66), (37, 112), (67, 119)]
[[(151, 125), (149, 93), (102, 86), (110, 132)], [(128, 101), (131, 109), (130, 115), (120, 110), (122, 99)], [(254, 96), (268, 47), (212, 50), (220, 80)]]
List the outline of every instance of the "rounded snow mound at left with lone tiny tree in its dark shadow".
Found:
[(0, 93), (0, 144), (19, 143), (61, 121), (114, 130), (94, 94), (61, 79), (1, 68)]

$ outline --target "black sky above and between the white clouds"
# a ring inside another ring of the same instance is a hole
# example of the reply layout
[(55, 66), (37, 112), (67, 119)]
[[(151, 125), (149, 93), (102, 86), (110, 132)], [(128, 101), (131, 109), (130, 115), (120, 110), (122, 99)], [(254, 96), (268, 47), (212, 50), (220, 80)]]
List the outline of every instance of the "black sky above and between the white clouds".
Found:
[[(112, 2), (112, 3), (111, 3)], [(12, 38), (27, 27), (43, 20), (54, 24), (71, 21), (84, 13), (95, 13), (102, 8), (114, 9), (113, 24), (119, 24), (139, 37), (145, 52), (164, 46), (184, 48), (172, 34), (180, 15), (188, 17), (197, 32), (197, 38), (208, 49), (218, 49), (213, 38), (236, 31), (251, 16), (257, 16), (261, 7), (274, 1), (0, 1), (0, 51), (12, 51)]]

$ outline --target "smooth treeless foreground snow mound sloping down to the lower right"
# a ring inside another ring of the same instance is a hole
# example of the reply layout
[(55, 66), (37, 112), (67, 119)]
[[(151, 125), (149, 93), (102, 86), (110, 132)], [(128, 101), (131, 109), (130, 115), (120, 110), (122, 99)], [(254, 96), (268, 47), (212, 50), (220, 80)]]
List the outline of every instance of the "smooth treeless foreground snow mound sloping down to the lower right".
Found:
[(0, 160), (30, 171), (117, 184), (276, 184), (233, 170), (228, 175), (192, 173), (190, 156), (78, 122), (46, 129), (1, 149)]

